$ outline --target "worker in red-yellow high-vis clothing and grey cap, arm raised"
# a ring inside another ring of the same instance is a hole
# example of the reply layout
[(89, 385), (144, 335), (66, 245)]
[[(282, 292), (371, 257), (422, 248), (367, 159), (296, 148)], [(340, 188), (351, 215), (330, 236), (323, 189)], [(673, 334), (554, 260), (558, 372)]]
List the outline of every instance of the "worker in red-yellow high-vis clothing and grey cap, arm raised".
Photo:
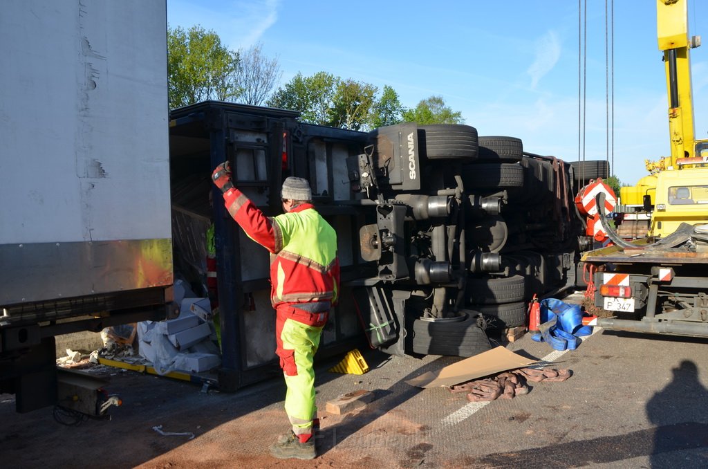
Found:
[(312, 459), (314, 433), (319, 429), (312, 360), (330, 307), (338, 299), (336, 233), (314, 209), (305, 179), (285, 179), (280, 194), (285, 213), (276, 217), (266, 217), (234, 187), (228, 163), (219, 164), (212, 179), (224, 193), (224, 205), (234, 220), (271, 253), (275, 354), (285, 375), (285, 412), (292, 430), (280, 436), (270, 453), (282, 459)]

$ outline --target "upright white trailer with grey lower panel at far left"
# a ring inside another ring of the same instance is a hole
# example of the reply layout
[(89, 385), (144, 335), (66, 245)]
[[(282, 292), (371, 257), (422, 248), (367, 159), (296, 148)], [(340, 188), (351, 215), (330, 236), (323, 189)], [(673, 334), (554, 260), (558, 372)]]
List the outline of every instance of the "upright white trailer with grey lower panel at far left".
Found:
[(165, 0), (2, 4), (0, 392), (20, 412), (56, 398), (55, 335), (170, 310), (166, 29)]

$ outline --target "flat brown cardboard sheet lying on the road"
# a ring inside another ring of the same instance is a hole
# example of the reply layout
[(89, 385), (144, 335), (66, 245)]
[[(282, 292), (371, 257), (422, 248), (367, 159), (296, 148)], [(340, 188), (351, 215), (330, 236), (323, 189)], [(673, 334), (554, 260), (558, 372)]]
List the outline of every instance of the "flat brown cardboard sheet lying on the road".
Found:
[(524, 358), (513, 351), (498, 346), (479, 355), (452, 363), (452, 365), (445, 366), (438, 371), (426, 371), (418, 378), (408, 380), (406, 383), (418, 388), (452, 386), (481, 378), (482, 376), (493, 375), (515, 368), (524, 368), (534, 363), (536, 363), (535, 360)]

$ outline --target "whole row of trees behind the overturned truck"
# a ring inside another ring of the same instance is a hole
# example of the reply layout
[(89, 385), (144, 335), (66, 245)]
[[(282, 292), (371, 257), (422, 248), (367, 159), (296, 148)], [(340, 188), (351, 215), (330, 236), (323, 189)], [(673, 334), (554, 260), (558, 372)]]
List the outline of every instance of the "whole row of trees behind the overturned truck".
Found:
[(297, 73), (278, 86), (278, 58), (263, 55), (261, 44), (229, 50), (213, 30), (193, 26), (168, 28), (167, 73), (170, 109), (207, 99), (252, 106), (291, 109), (305, 123), (350, 130), (372, 130), (403, 122), (461, 124), (442, 96), (422, 99), (406, 108), (392, 86), (343, 79), (328, 72), (309, 77)]

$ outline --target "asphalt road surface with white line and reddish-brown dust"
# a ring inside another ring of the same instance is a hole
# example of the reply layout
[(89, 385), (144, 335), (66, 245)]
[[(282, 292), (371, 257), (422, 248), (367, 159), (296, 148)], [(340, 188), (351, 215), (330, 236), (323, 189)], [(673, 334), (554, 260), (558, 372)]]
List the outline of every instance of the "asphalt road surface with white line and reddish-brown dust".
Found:
[[(406, 380), (457, 359), (362, 351), (365, 375), (317, 370), (322, 436), (314, 461), (280, 461), (268, 446), (287, 431), (285, 388), (273, 379), (233, 394), (98, 367), (122, 397), (112, 419), (64, 426), (52, 409), (14, 412), (0, 395), (4, 468), (705, 468), (708, 341), (598, 329), (559, 353), (528, 334), (505, 345), (569, 368), (562, 383), (531, 383), (513, 400), (469, 403), (445, 388)], [(353, 390), (375, 400), (345, 416), (325, 402)], [(153, 429), (188, 435), (159, 434)]]

